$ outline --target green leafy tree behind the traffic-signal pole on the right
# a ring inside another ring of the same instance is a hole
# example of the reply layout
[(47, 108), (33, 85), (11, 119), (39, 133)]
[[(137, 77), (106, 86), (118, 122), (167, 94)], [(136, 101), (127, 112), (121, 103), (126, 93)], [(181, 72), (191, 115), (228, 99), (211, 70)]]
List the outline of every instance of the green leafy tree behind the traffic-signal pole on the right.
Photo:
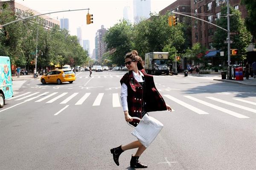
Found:
[[(221, 8), (221, 14), (227, 14), (227, 7), (224, 6)], [(250, 44), (252, 36), (244, 26), (244, 20), (241, 18), (241, 12), (231, 7), (230, 14), (233, 14), (230, 16), (230, 32), (239, 32), (238, 35), (231, 35), (231, 40), (233, 41), (230, 45), (231, 49), (239, 49), (239, 55), (236, 55), (231, 59), (243, 60), (246, 57), (246, 48)], [(227, 29), (227, 17), (221, 17), (221, 19), (217, 20), (216, 24)], [(225, 56), (224, 58), (222, 57), (223, 61), (227, 61), (227, 44), (224, 44), (226, 37), (227, 32), (222, 29), (217, 29), (213, 37), (213, 46), (216, 49), (224, 51)]]

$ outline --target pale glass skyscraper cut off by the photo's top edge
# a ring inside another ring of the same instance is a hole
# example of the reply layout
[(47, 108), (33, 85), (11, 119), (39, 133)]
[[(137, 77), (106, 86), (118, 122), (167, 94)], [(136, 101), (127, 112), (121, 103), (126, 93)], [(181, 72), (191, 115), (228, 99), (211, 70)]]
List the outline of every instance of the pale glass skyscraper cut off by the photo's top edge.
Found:
[(147, 19), (150, 17), (151, 11), (150, 0), (134, 0), (134, 23), (139, 23), (141, 19)]

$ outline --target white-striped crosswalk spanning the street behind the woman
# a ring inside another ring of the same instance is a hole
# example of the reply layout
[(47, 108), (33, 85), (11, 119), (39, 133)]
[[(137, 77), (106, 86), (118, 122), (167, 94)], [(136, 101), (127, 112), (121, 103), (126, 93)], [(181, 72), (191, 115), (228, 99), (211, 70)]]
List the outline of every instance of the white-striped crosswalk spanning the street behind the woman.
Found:
[[(111, 100), (109, 96), (112, 97)], [(208, 115), (212, 114), (211, 112), (209, 112), (210, 109), (208, 109), (211, 108), (217, 110), (214, 113), (228, 114), (236, 118), (250, 118), (248, 112), (256, 113), (256, 102), (250, 101), (251, 99), (246, 100), (244, 98), (241, 99), (233, 97), (230, 98), (229, 101), (224, 101), (221, 98), (216, 97), (200, 97), (199, 99), (198, 97), (196, 98), (191, 95), (183, 95), (178, 97), (174, 97), (172, 95), (163, 95), (163, 97), (165, 98), (166, 103), (170, 104), (171, 107), (175, 107), (175, 112), (179, 112), (179, 110), (183, 110), (182, 107), (185, 107), (191, 110), (194, 114)], [(85, 102), (86, 100), (88, 100), (88, 98), (90, 98), (90, 101), (93, 101), (93, 107), (101, 105), (104, 106), (104, 102), (102, 102), (103, 98), (103, 101), (112, 101), (112, 107), (121, 107), (119, 93), (105, 95), (104, 93), (92, 94), (90, 92), (26, 92), (8, 100), (25, 102), (30, 101), (35, 103), (43, 102), (46, 104), (73, 104), (77, 106), (88, 104), (87, 102)], [(204, 105), (204, 107), (198, 107), (198, 104)], [(231, 106), (229, 108), (232, 108), (232, 110), (228, 109), (227, 106)], [(237, 108), (239, 108), (240, 112), (237, 111)], [(241, 112), (241, 110), (243, 111)]]

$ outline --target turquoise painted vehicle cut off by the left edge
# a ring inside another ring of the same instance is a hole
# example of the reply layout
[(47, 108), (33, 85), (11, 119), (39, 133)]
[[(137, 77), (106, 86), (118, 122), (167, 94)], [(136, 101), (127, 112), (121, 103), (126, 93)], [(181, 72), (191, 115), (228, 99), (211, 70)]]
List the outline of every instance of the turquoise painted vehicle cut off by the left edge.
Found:
[(12, 72), (9, 57), (0, 56), (0, 108), (8, 98), (12, 98)]

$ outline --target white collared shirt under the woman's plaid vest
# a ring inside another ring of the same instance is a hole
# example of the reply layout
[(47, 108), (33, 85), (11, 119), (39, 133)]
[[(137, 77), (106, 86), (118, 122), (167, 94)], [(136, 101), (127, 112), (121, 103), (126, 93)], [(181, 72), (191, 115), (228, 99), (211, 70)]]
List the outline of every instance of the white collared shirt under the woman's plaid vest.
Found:
[[(144, 75), (142, 74), (142, 72), (140, 70), (138, 70), (138, 71), (139, 71), (140, 75), (134, 71), (132, 72), (132, 74), (136, 81), (143, 82), (142, 76), (144, 77)], [(128, 96), (128, 88), (127, 88), (126, 84), (123, 83), (122, 87), (121, 87), (121, 103), (122, 103), (123, 111), (128, 111), (127, 96)]]

